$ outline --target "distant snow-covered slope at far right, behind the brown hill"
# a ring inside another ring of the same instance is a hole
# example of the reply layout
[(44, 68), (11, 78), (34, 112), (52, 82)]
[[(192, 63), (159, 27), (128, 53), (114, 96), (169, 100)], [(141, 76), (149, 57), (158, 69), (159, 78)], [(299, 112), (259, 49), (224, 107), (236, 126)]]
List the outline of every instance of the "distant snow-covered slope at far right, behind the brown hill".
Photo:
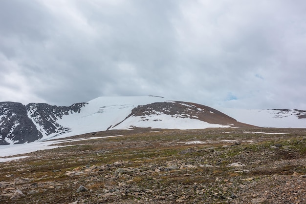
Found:
[(306, 111), (289, 109), (232, 109), (218, 108), (219, 111), (239, 122), (260, 127), (306, 128)]

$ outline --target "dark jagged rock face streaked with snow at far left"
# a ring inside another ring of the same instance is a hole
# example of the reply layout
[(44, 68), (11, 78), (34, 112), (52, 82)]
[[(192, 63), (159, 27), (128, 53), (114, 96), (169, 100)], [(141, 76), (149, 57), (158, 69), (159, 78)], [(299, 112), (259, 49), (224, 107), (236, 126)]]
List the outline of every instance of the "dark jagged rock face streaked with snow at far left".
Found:
[(68, 127), (57, 119), (71, 113), (80, 113), (86, 103), (55, 106), (46, 103), (0, 102), (0, 145), (31, 143), (44, 135), (64, 133)]

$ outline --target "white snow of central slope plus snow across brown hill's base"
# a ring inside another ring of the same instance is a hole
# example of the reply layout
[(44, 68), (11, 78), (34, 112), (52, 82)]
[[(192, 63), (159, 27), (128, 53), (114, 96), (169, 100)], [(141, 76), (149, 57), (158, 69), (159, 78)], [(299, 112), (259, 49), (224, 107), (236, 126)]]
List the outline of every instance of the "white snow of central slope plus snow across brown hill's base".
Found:
[[(64, 115), (58, 119), (60, 125), (70, 130), (64, 134), (51, 134), (41, 141), (64, 138), (89, 132), (98, 132), (111, 129), (131, 129), (132, 127), (152, 127), (167, 129), (202, 129), (209, 127), (230, 127), (230, 125), (211, 124), (200, 120), (182, 118), (181, 115), (173, 117), (163, 113), (146, 115), (145, 118), (131, 116), (131, 110), (138, 105), (153, 102), (171, 102), (161, 97), (99, 97), (91, 100), (81, 108), (80, 113)], [(127, 119), (126, 119), (127, 118)], [(126, 119), (126, 120), (125, 120)], [(121, 123), (120, 123), (121, 122)], [(118, 124), (120, 123), (120, 124)], [(118, 124), (118, 125), (116, 125)]]

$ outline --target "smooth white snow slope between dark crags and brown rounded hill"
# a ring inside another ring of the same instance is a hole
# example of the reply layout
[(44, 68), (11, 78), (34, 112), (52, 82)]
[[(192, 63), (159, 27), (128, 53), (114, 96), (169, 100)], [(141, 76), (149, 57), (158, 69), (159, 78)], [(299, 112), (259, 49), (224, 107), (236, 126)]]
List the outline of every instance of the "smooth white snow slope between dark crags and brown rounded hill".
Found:
[(81, 108), (80, 113), (65, 115), (57, 120), (59, 124), (69, 128), (67, 133), (44, 136), (43, 140), (107, 130), (123, 121), (138, 105), (165, 101), (165, 98), (150, 96), (98, 97), (87, 102), (88, 104)]

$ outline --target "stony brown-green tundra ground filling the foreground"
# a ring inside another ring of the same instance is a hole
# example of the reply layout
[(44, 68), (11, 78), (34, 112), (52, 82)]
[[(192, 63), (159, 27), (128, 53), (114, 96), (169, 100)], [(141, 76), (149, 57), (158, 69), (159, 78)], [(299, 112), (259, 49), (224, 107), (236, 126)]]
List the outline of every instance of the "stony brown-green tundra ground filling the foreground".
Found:
[(306, 203), (306, 129), (136, 129), (72, 138), (111, 135), (122, 136), (67, 141), (61, 145), (74, 146), (0, 163), (0, 203)]

